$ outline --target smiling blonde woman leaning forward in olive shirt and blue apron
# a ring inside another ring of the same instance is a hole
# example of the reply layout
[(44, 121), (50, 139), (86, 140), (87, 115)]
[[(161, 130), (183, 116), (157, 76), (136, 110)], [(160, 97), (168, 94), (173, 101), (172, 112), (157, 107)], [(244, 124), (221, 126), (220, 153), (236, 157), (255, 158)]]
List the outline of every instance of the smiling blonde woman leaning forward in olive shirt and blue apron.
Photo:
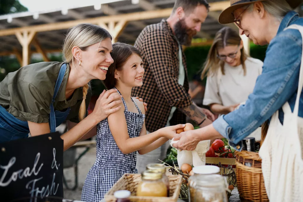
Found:
[[(89, 82), (104, 80), (113, 63), (112, 37), (105, 29), (80, 24), (68, 30), (64, 62), (39, 62), (9, 73), (0, 83), (0, 143), (55, 132), (68, 120), (61, 135), (64, 150), (96, 135), (96, 125), (121, 108), (115, 90), (103, 91), (87, 115)], [(89, 132), (90, 131), (90, 132)]]

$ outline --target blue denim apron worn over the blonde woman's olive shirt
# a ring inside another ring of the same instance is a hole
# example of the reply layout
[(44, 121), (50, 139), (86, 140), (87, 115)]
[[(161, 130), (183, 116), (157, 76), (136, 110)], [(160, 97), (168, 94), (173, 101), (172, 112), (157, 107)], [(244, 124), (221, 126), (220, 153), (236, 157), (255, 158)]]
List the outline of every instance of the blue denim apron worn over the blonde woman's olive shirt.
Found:
[[(51, 112), (49, 114), (49, 127), (51, 132), (55, 132), (56, 127), (66, 120), (70, 111), (70, 107), (66, 111), (54, 110), (55, 98), (62, 84), (65, 71), (66, 64), (63, 64), (59, 71), (58, 79), (55, 84), (54, 95), (50, 104)], [(0, 106), (0, 143), (20, 138), (27, 138), (28, 133), (29, 128), (27, 121), (21, 121), (15, 118), (12, 114), (8, 113), (5, 108)]]

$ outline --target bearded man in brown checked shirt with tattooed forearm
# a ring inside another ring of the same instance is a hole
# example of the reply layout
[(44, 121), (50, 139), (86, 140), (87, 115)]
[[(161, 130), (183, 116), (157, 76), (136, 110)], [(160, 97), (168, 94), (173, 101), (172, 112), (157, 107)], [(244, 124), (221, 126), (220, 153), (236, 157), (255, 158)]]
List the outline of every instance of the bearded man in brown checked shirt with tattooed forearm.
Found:
[[(145, 75), (143, 86), (133, 88), (132, 96), (148, 103), (145, 125), (148, 132), (183, 124), (186, 116), (200, 127), (211, 124), (214, 115), (198, 107), (188, 94), (188, 77), (182, 45), (191, 45), (191, 39), (201, 29), (209, 12), (206, 0), (176, 0), (170, 17), (158, 24), (145, 27), (135, 47), (142, 54)], [(161, 163), (169, 147), (164, 144), (148, 154), (137, 153), (137, 169), (141, 173), (149, 163)]]

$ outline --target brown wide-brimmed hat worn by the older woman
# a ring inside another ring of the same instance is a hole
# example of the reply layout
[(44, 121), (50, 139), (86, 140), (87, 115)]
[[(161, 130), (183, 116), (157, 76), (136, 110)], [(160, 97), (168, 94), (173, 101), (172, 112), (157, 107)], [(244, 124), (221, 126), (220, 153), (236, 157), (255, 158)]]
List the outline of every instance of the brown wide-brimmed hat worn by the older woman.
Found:
[[(219, 22), (221, 24), (228, 24), (234, 22), (234, 15), (233, 12), (242, 6), (255, 3), (255, 2), (262, 2), (266, 0), (230, 0), (230, 7), (226, 8), (219, 16)], [(297, 8), (303, 0), (285, 0), (291, 8)]]

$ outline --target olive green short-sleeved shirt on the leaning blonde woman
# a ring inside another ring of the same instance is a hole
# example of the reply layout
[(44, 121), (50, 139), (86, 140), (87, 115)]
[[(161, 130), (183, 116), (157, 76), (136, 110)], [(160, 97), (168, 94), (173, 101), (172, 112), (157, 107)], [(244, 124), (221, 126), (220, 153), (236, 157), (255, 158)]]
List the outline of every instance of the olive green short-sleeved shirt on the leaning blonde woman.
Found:
[[(62, 64), (64, 62), (39, 62), (8, 73), (0, 83), (0, 105), (19, 120), (48, 123), (50, 104)], [(62, 84), (55, 98), (54, 108), (65, 111), (71, 107), (67, 120), (78, 123), (83, 91), (82, 88), (77, 88), (66, 100), (65, 89), (69, 72), (70, 66), (67, 64)], [(85, 100), (86, 115), (91, 96), (91, 91), (88, 91)]]

